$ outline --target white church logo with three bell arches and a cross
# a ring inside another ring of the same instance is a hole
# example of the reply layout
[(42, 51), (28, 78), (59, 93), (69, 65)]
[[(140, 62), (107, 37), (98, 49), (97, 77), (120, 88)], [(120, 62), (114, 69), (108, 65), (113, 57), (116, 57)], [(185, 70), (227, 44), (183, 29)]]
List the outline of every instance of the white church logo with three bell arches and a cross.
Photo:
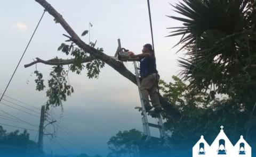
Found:
[(211, 146), (201, 136), (193, 147), (193, 157), (251, 157), (251, 146), (241, 135), (235, 146), (229, 141), (224, 133), (223, 126), (220, 127), (219, 135), (214, 139)]

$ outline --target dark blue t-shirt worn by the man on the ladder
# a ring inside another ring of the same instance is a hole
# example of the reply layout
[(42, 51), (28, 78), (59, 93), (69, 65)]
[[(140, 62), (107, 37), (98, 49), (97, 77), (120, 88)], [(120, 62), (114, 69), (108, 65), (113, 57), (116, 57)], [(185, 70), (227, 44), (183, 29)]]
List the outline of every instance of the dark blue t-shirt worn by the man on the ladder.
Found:
[(140, 76), (146, 77), (149, 74), (158, 73), (156, 69), (155, 54), (151, 53), (150, 57), (140, 59)]

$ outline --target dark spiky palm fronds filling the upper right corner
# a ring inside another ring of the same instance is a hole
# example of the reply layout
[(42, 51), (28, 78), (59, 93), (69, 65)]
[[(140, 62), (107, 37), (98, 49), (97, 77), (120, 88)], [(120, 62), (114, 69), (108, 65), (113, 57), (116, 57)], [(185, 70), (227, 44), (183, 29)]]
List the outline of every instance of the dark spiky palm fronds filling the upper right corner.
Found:
[(255, 3), (249, 0), (183, 0), (174, 6), (184, 18), (170, 36), (182, 35), (183, 79), (195, 91), (228, 94), (252, 110), (256, 102)]

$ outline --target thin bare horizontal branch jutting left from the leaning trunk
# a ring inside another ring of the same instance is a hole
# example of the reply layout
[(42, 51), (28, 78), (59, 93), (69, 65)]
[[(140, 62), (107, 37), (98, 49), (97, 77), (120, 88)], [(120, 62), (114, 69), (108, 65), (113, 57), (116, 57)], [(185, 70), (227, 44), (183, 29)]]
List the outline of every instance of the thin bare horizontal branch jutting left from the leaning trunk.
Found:
[[(91, 62), (94, 59), (95, 59), (94, 57), (87, 57), (87, 58), (84, 58), (82, 60), (82, 63)], [(40, 59), (40, 58), (37, 57), (34, 62), (26, 64), (26, 65), (24, 65), (24, 67), (27, 68), (27, 67), (30, 67), (30, 66), (32, 66), (34, 64), (37, 64), (37, 63), (43, 63), (43, 64), (46, 64), (46, 65), (69, 65), (69, 64), (73, 64), (74, 61), (75, 61), (75, 59), (59, 59), (59, 58), (53, 58), (53, 59), (50, 59), (50, 60), (43, 60), (43, 59)]]

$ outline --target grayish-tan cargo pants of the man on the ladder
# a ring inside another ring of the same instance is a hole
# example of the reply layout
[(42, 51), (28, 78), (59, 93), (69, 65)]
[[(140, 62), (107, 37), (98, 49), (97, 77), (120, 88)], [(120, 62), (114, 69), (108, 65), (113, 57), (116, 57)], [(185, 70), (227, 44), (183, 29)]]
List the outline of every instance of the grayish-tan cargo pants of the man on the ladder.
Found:
[[(161, 108), (161, 104), (157, 92), (157, 83), (159, 80), (158, 74), (149, 74), (141, 80), (140, 91), (145, 107), (150, 106), (149, 97), (152, 106), (155, 108)], [(149, 97), (148, 97), (149, 96)]]

